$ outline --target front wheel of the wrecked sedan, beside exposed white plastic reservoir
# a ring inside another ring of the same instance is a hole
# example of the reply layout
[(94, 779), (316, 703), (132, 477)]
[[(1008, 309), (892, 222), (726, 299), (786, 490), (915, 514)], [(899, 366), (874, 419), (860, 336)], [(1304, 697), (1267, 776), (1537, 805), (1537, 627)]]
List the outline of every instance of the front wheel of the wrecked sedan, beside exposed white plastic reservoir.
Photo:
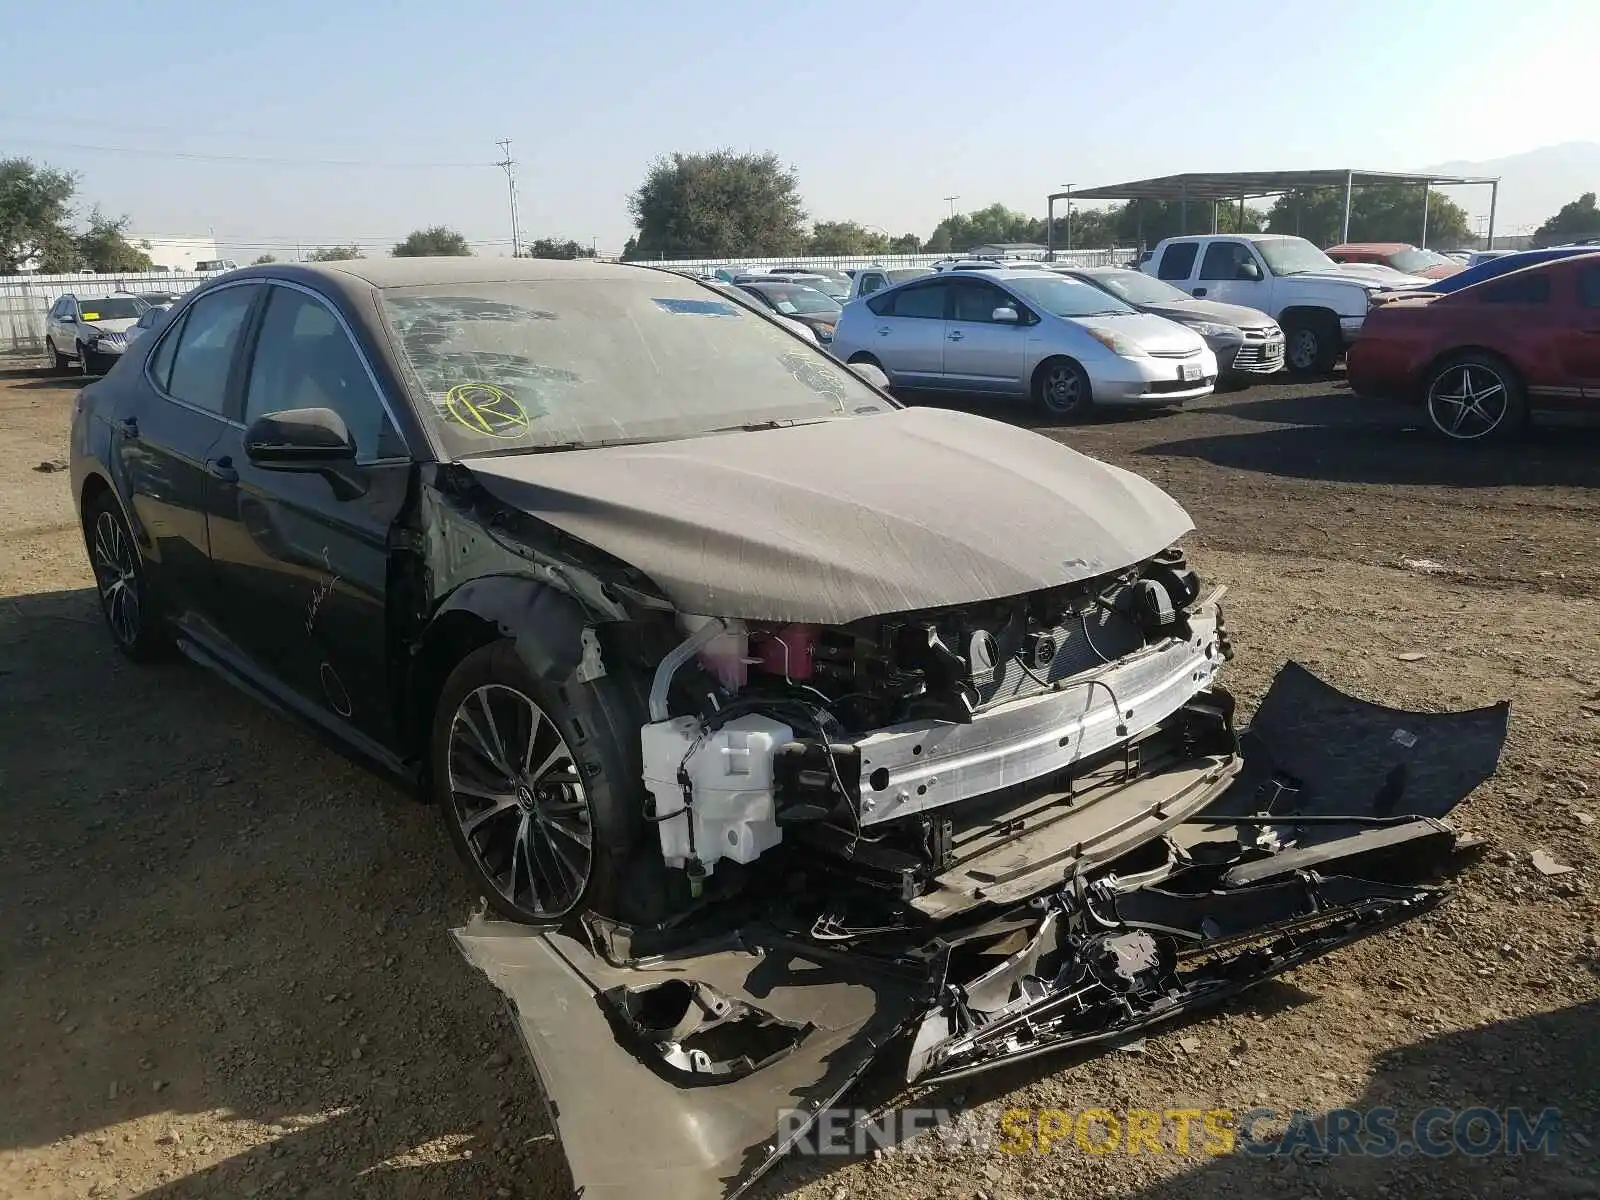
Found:
[(638, 723), (611, 680), (539, 678), (506, 640), (451, 672), (434, 714), (432, 787), (501, 917), (554, 926), (618, 912), (643, 824)]

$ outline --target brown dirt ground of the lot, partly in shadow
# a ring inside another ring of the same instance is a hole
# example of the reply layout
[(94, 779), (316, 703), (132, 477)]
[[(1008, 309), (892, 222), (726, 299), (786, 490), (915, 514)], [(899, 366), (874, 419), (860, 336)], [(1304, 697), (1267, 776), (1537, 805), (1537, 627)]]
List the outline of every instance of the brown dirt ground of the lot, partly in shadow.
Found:
[[(0, 1195), (568, 1197), (498, 997), (446, 938), (474, 898), (435, 814), (208, 674), (112, 651), (67, 475), (40, 470), (74, 387), (0, 374)], [(1142, 1048), (930, 1102), (1387, 1104), (1402, 1128), (1557, 1106), (1560, 1152), (920, 1147), (790, 1160), (757, 1194), (1600, 1195), (1600, 430), (1462, 453), (1326, 382), (1043, 432), (1194, 514), (1246, 707), (1298, 659), (1398, 706), (1509, 698), (1510, 741), (1459, 813), (1491, 851), (1440, 912)]]

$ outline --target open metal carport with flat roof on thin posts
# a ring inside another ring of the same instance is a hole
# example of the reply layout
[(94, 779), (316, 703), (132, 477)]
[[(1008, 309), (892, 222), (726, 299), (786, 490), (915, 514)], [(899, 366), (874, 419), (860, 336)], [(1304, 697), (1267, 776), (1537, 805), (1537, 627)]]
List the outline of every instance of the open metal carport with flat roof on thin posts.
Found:
[(1414, 171), (1190, 171), (1186, 174), (1163, 174), (1155, 179), (1134, 179), (1126, 184), (1109, 184), (1106, 187), (1086, 187), (1074, 192), (1051, 192), (1048, 211), (1045, 214), (1045, 248), (1054, 250), (1056, 232), (1056, 200), (1067, 202), (1067, 250), (1072, 248), (1072, 202), (1074, 200), (1178, 200), (1182, 205), (1182, 230), (1189, 232), (1189, 202), (1211, 202), (1211, 232), (1218, 226), (1218, 205), (1238, 202), (1243, 216), (1245, 200), (1258, 200), (1264, 195), (1282, 195), (1283, 192), (1307, 190), (1312, 187), (1344, 189), (1344, 221), (1339, 226), (1339, 240), (1350, 240), (1350, 197), (1357, 187), (1403, 187), (1416, 186), (1422, 189), (1422, 245), (1427, 245), (1427, 197), (1434, 187), (1451, 187), (1456, 184), (1486, 184), (1490, 189), (1490, 230), (1485, 248), (1494, 248), (1494, 206), (1499, 202), (1499, 176), (1469, 174), (1430, 174)]

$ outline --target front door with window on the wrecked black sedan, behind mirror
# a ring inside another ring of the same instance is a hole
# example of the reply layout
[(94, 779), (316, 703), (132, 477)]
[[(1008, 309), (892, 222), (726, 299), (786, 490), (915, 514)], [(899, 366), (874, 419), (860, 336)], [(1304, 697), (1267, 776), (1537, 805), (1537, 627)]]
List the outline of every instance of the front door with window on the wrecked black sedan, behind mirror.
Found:
[[(387, 643), (389, 534), (411, 456), (331, 304), (274, 283), (243, 373), (243, 424), (213, 451), (211, 563), (229, 638), (326, 723), (395, 747)], [(245, 454), (266, 413), (331, 408), (357, 448), (347, 477), (270, 470)]]

